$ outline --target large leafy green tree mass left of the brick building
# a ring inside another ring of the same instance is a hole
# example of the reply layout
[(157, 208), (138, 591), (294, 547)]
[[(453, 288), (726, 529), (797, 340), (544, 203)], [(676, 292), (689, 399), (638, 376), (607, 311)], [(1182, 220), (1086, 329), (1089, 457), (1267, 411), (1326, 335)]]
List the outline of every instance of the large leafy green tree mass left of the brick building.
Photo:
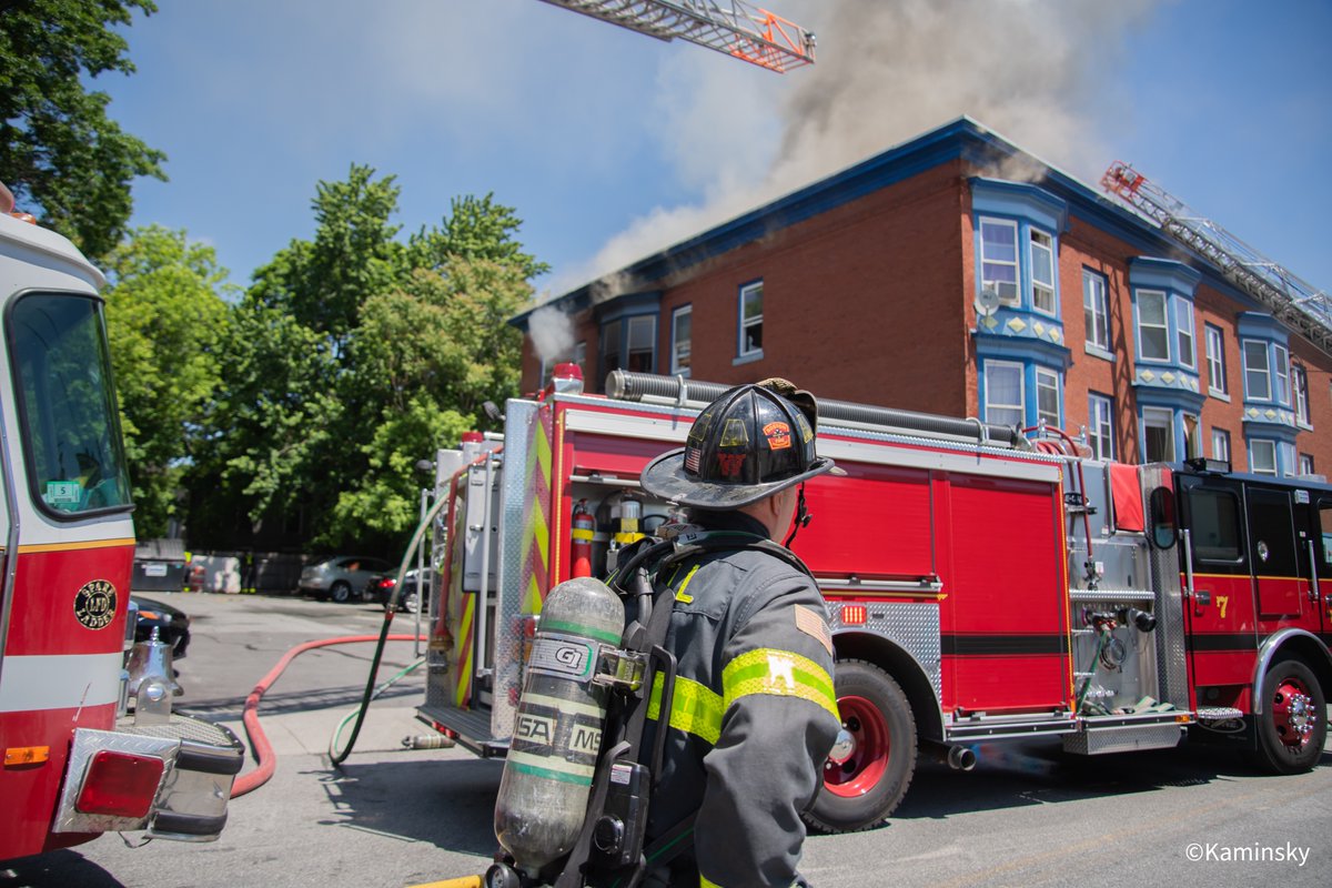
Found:
[(397, 554), (428, 482), (417, 463), (515, 394), (521, 334), (506, 321), (545, 270), (514, 237), (521, 221), (462, 197), (402, 244), (397, 200), (366, 166), (320, 182), (313, 240), (274, 256), (236, 306), (190, 497), (205, 543), (278, 525), (317, 547)]

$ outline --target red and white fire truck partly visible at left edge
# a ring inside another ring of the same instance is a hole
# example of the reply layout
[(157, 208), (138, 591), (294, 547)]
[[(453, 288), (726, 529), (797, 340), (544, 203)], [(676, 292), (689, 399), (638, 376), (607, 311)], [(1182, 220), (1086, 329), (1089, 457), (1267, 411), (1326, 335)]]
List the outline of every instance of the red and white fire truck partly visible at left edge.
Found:
[(0, 186), (0, 860), (108, 831), (216, 839), (240, 743), (170, 714), (160, 668), (125, 670), (135, 529), (105, 281), (11, 210)]

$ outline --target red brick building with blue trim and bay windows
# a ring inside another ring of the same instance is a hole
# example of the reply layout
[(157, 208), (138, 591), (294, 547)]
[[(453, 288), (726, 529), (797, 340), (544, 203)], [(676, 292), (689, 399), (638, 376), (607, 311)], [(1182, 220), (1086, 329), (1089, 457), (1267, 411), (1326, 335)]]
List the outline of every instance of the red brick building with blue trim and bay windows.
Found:
[(1332, 357), (1155, 225), (968, 118), (546, 304), (615, 367), (1087, 429), (1126, 462), (1327, 474)]

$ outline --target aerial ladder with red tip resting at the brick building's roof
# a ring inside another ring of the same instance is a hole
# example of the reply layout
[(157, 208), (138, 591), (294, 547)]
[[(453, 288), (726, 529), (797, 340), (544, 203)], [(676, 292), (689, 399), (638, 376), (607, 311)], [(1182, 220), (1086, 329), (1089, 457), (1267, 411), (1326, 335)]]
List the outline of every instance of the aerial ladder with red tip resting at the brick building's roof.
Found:
[(1100, 186), (1203, 256), (1231, 284), (1263, 304), (1276, 320), (1332, 355), (1332, 300), (1325, 290), (1315, 289), (1216, 222), (1191, 210), (1123, 161), (1110, 165)]

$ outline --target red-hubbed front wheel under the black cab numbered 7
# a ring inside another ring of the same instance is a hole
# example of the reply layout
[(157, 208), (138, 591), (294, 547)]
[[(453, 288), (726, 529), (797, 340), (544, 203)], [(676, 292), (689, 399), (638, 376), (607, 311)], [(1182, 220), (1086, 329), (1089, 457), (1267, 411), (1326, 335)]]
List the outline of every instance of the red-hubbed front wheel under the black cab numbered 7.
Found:
[(1323, 755), (1327, 698), (1317, 676), (1300, 660), (1277, 660), (1263, 676), (1257, 716), (1257, 760), (1275, 774), (1308, 771)]

